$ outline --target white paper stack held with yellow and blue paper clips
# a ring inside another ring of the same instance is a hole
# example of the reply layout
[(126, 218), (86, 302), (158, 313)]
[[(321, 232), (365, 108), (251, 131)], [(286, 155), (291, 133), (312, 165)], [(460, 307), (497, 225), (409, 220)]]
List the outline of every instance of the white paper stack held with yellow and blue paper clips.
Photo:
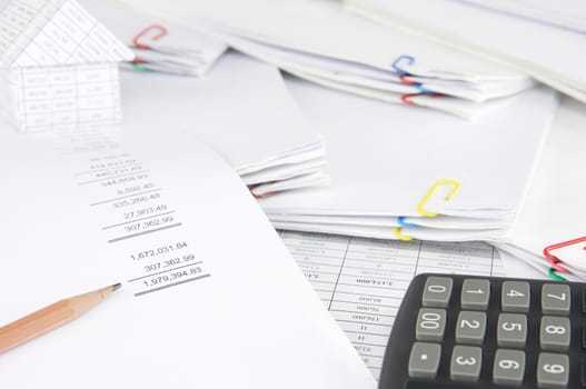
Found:
[(332, 183), (262, 199), (269, 219), (282, 229), (385, 239), (498, 239), (557, 107), (556, 93), (540, 87), (470, 123), (298, 79), (288, 87), (324, 132)]

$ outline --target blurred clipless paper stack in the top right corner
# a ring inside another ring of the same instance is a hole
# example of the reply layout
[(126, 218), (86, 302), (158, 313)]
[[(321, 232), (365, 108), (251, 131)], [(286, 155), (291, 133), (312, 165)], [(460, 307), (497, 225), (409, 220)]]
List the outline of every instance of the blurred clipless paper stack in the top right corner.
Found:
[[(580, 30), (586, 20), (584, 2), (485, 3), (345, 0), (348, 9), (360, 14), (517, 69), (586, 102), (586, 51), (580, 50), (586, 47), (586, 34)], [(566, 24), (568, 14), (578, 20), (577, 26), (573, 21)], [(539, 44), (547, 49), (539, 50)]]

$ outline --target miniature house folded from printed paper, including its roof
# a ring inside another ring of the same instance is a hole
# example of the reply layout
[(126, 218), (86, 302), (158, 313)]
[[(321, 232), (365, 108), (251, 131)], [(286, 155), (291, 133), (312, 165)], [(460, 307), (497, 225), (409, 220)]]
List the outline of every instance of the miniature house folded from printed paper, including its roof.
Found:
[(132, 52), (75, 0), (0, 10), (0, 112), (21, 131), (121, 120), (118, 62)]

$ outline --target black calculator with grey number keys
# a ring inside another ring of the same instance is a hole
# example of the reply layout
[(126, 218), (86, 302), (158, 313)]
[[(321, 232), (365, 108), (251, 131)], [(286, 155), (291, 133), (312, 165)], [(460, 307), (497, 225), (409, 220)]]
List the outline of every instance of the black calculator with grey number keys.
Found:
[(586, 388), (586, 283), (418, 275), (379, 389)]

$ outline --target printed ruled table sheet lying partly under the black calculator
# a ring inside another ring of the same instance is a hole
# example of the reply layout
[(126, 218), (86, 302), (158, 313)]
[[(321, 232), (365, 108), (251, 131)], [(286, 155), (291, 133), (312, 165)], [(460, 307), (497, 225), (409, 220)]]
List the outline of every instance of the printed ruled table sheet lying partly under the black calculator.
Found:
[(423, 272), (506, 276), (483, 242), (396, 241), (280, 231), (285, 246), (378, 379), (393, 321)]

